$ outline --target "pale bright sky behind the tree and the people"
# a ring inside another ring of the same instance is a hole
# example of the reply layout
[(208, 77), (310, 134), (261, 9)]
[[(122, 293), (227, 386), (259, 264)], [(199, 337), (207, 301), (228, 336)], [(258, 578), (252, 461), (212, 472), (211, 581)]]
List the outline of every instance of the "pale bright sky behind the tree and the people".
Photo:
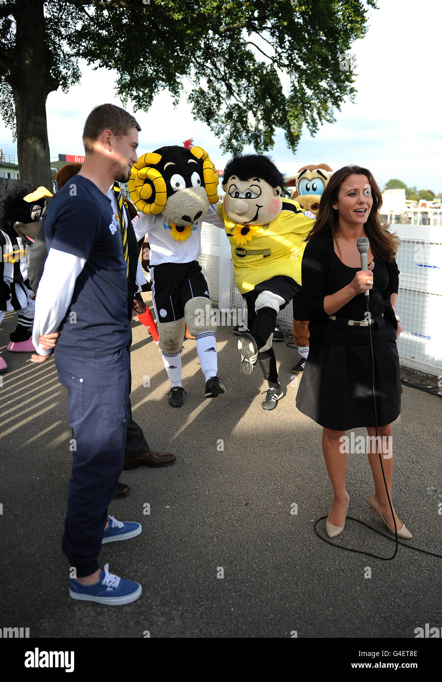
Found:
[[(303, 164), (327, 163), (337, 170), (356, 163), (370, 168), (381, 186), (398, 177), (418, 190), (441, 192), (442, 1), (378, 0), (378, 5), (379, 10), (370, 11), (367, 35), (351, 50), (357, 63), (355, 104), (344, 103), (335, 113), (336, 123), (322, 125), (316, 137), (303, 130), (295, 155), (278, 131), (271, 154), (284, 174)], [(83, 125), (94, 106), (103, 102), (121, 106), (113, 89), (115, 74), (94, 71), (85, 63), (81, 71), (79, 85), (66, 95), (53, 92), (47, 99), (51, 157), (83, 153)], [(208, 126), (193, 119), (185, 95), (174, 109), (163, 92), (147, 113), (135, 115), (142, 129), (140, 154), (193, 138), (195, 145), (207, 149), (217, 168), (229, 158)], [(16, 154), (3, 121), (0, 148)]]

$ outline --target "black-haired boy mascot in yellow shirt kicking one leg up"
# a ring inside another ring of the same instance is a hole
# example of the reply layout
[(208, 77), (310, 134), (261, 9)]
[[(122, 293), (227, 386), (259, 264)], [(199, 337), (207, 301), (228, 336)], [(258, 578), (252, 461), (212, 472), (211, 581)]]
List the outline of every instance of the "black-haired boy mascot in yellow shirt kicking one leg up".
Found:
[(247, 303), (250, 333), (240, 333), (240, 370), (258, 361), (268, 382), (264, 410), (284, 395), (272, 348), (276, 318), (301, 288), (303, 239), (313, 226), (299, 203), (282, 198), (284, 178), (265, 155), (236, 155), (224, 170), (217, 210), (232, 248), (235, 283)]

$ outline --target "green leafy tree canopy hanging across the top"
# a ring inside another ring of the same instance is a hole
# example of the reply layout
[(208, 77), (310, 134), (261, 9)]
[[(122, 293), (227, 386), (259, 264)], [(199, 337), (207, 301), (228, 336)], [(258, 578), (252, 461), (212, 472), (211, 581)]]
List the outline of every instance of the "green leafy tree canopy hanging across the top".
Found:
[[(190, 83), (193, 115), (225, 151), (247, 144), (271, 149), (276, 128), (295, 151), (304, 125), (315, 134), (335, 120), (344, 98), (354, 98), (353, 61), (344, 55), (365, 35), (370, 7), (375, 0), (6, 1), (0, 4), (1, 104), (12, 125), (14, 100), (20, 164), (21, 138), (39, 134), (37, 121), (29, 132), (18, 113), (23, 81), (33, 84), (31, 97), (21, 95), (28, 107), (37, 88), (41, 93), (36, 110), (44, 136), (42, 101), (79, 80), (78, 57), (117, 70), (118, 95), (135, 110), (148, 110), (163, 89), (178, 101)], [(23, 47), (36, 67), (20, 56)], [(40, 146), (44, 151), (44, 140)]]

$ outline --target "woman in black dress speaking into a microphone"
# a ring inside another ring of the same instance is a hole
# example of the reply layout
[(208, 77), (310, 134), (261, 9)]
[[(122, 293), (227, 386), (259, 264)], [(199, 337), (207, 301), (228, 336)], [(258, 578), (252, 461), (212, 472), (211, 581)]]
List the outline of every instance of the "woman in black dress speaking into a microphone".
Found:
[[(370, 325), (381, 436), (378, 445), (391, 499), (391, 422), (400, 414), (402, 393), (396, 339), (402, 327), (394, 314), (399, 284), (395, 260), (398, 238), (381, 225), (381, 204), (381, 191), (367, 168), (345, 166), (337, 170), (322, 194), (302, 261), (301, 295), (310, 321), (310, 351), (296, 406), (323, 427), (322, 451), (335, 493), (326, 522), (329, 537), (342, 533), (348, 509), (345, 432), (360, 426), (373, 436), (367, 439), (375, 487), (369, 500), (373, 516), (377, 511), (394, 533), (374, 438), (369, 329)], [(361, 270), (359, 237), (368, 237), (370, 242), (368, 270)], [(398, 535), (412, 537), (396, 511), (395, 520)]]

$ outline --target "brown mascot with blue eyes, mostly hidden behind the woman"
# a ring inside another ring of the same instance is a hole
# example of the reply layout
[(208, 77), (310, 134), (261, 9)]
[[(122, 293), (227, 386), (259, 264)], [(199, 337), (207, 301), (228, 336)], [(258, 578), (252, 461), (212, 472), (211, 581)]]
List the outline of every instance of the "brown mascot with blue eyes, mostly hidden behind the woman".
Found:
[[(333, 175), (333, 170), (327, 164), (310, 164), (299, 168), (296, 175), (286, 177), (286, 186), (294, 187), (292, 199), (296, 199), (305, 211), (318, 216), (319, 203), (322, 192), (329, 179)], [(295, 319), (300, 317), (303, 319)], [(298, 353), (301, 359), (295, 362), (292, 372), (295, 374), (302, 372), (305, 361), (309, 354), (309, 323), (305, 320), (307, 314), (301, 303), (301, 297), (293, 299), (293, 340), (298, 346)]]

